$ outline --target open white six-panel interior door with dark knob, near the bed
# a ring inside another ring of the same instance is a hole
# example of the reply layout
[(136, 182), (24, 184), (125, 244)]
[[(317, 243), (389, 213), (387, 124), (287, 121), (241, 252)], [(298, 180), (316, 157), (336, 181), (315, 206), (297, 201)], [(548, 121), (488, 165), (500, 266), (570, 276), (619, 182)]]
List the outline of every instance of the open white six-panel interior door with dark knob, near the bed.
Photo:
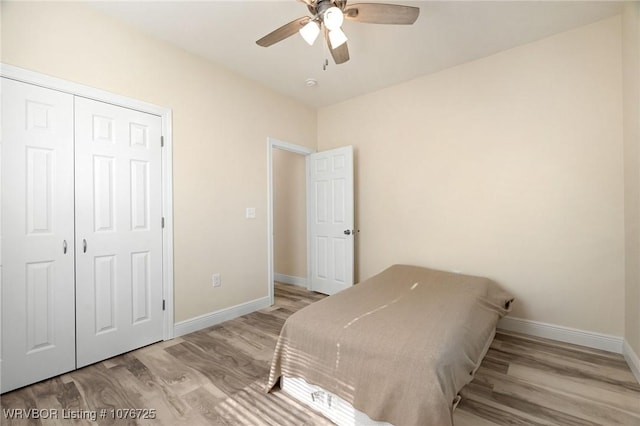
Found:
[(353, 148), (308, 159), (311, 290), (334, 294), (353, 285)]

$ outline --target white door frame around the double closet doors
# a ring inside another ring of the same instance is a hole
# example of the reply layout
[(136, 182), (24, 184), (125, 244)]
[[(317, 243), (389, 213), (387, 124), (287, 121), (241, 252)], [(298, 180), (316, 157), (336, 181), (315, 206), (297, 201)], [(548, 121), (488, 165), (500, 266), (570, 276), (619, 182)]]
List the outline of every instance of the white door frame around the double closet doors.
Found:
[[(159, 116), (162, 119), (162, 136), (164, 147), (162, 151), (162, 215), (164, 229), (162, 236), (162, 295), (165, 301), (163, 319), (163, 339), (173, 338), (174, 333), (174, 306), (173, 306), (173, 130), (172, 111), (170, 108), (161, 107), (137, 99), (116, 95), (101, 89), (74, 83), (57, 77), (51, 77), (38, 72), (19, 68), (13, 65), (0, 63), (0, 76), (29, 83), (47, 89), (57, 90), (74, 96), (93, 99), (116, 106), (129, 108), (148, 114)], [(0, 236), (2, 235), (0, 229)], [(0, 271), (2, 270), (2, 257), (0, 253)], [(1, 277), (0, 277), (1, 284)]]

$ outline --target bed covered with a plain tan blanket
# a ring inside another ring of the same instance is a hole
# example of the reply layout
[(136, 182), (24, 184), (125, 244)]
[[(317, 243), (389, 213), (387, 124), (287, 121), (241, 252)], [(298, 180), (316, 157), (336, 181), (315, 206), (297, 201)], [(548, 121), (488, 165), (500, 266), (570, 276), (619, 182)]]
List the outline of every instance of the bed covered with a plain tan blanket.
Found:
[(316, 407), (346, 403), (396, 426), (451, 425), (458, 392), (512, 301), (487, 278), (391, 266), (291, 315), (267, 390), (286, 378)]

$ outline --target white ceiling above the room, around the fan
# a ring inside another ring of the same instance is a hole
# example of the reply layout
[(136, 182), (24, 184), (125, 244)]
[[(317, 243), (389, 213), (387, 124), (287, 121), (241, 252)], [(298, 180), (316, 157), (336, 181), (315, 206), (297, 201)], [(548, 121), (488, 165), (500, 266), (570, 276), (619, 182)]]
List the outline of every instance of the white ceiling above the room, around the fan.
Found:
[[(379, 1), (417, 6), (415, 24), (345, 21), (351, 60), (335, 65), (323, 40), (255, 41), (308, 15), (287, 1), (92, 2), (93, 7), (302, 103), (321, 107), (529, 43), (621, 12), (615, 1)], [(325, 58), (329, 66), (323, 70)], [(305, 81), (314, 78), (316, 87)]]

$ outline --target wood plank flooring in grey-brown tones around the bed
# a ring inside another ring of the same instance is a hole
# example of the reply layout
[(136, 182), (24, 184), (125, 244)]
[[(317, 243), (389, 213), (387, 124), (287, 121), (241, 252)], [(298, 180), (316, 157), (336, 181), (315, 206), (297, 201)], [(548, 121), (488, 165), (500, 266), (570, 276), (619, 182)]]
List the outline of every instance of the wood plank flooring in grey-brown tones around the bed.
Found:
[[(2, 395), (0, 424), (331, 425), (264, 392), (285, 319), (323, 297), (277, 284), (271, 308)], [(496, 335), (461, 395), (456, 426), (640, 426), (640, 385), (621, 355), (516, 333)], [(29, 409), (58, 418), (10, 418)]]

